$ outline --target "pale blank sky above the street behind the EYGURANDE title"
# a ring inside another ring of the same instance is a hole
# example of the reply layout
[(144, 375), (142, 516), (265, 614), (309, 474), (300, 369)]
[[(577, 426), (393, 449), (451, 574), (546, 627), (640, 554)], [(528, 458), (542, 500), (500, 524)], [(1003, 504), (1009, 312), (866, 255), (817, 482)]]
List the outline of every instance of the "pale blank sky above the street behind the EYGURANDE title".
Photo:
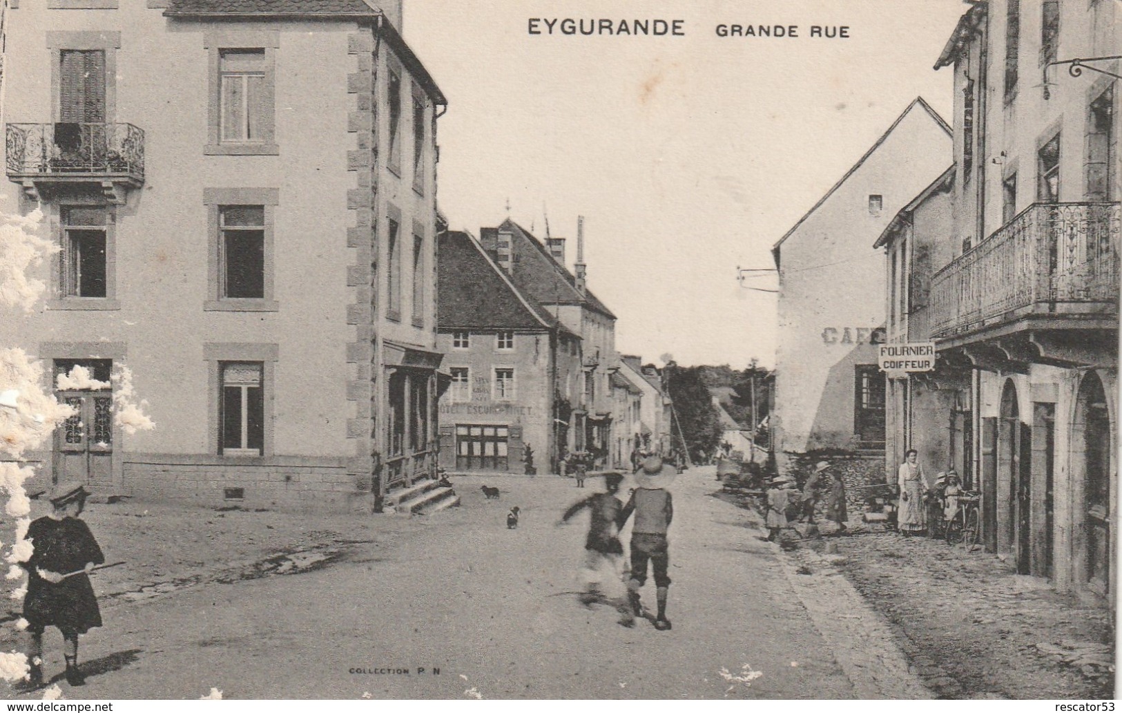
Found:
[[(452, 228), (478, 236), (509, 200), (544, 237), (544, 205), (571, 264), (583, 214), (589, 286), (620, 351), (742, 368), (774, 364), (775, 295), (741, 287), (736, 267), (773, 267), (774, 241), (917, 95), (949, 120), (951, 73), (931, 67), (966, 9), (405, 0), (404, 35), (449, 99), (439, 200)], [(682, 19), (686, 36), (531, 36), (531, 17)], [(720, 22), (800, 37), (718, 37)], [(850, 38), (811, 38), (811, 25)]]

